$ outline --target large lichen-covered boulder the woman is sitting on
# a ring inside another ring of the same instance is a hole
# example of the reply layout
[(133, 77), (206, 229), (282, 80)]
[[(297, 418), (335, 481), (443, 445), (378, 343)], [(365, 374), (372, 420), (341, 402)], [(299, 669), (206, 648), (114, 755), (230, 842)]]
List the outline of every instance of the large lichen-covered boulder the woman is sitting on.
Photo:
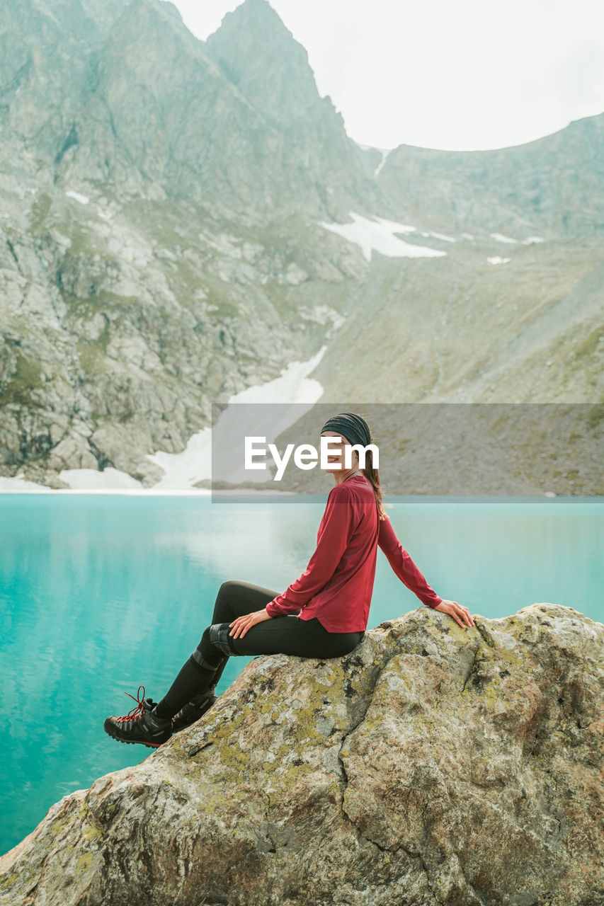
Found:
[(2, 903), (598, 906), (604, 626), (475, 622), (418, 608), (346, 658), (250, 661), (54, 805), (0, 860)]

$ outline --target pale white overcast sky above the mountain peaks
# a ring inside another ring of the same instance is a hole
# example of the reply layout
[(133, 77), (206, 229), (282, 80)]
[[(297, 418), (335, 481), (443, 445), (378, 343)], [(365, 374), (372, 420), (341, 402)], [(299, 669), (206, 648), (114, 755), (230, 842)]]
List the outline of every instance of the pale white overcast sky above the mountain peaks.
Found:
[[(174, 0), (204, 40), (238, 0)], [(270, 0), (351, 139), (520, 145), (604, 111), (601, 0)]]

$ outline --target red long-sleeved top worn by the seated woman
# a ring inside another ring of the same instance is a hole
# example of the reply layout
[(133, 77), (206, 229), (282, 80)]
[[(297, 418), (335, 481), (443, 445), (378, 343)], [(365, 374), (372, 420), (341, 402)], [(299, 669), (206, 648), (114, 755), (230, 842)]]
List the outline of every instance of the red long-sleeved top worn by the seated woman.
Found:
[(363, 474), (332, 487), (317, 532), (317, 550), (283, 594), (267, 604), (271, 617), (296, 613), (328, 632), (365, 631), (374, 588), (377, 545), (407, 588), (435, 607), (443, 599), (401, 546), (390, 519), (379, 519), (374, 489)]

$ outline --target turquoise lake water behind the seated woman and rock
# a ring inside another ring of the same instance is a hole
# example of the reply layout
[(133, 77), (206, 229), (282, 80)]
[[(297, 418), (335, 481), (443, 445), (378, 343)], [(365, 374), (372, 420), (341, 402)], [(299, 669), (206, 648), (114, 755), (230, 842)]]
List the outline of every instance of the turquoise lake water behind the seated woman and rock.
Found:
[[(141, 684), (161, 699), (211, 622), (220, 583), (279, 593), (297, 579), (325, 502), (0, 495), (0, 853), (63, 795), (152, 754), (108, 737), (103, 719), (131, 710), (124, 693)], [(491, 618), (552, 602), (604, 622), (603, 497), (387, 502), (443, 598)], [(378, 550), (367, 629), (423, 606)], [(229, 660), (218, 693), (249, 660)]]

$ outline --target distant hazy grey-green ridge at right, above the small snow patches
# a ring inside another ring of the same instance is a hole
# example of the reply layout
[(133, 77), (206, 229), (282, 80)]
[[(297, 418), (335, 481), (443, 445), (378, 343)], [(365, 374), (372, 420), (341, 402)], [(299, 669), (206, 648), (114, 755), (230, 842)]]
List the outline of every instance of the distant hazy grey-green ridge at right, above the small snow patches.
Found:
[(602, 115), (510, 148), (440, 151), (399, 145), (376, 181), (393, 211), (406, 206), (425, 229), (601, 238), (603, 145)]

